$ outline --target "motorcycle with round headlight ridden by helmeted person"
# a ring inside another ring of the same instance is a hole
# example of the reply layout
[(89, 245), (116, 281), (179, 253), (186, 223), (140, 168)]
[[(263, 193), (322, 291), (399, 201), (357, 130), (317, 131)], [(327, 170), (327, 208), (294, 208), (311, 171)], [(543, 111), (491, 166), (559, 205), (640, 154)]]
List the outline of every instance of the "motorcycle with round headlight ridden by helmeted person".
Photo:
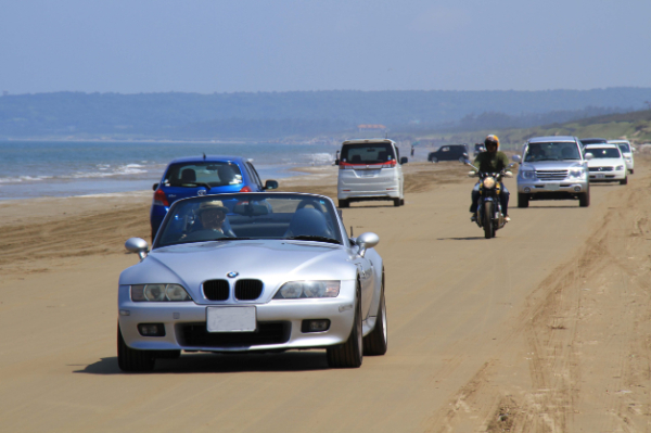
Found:
[[(501, 193), (502, 178), (511, 178), (513, 174), (508, 169), (499, 173), (483, 173), (471, 164), (468, 157), (459, 158), (460, 162), (473, 168), (468, 173), (468, 177), (480, 178), (480, 201), (476, 209), (476, 224), (484, 229), (484, 238), (495, 238), (495, 232), (505, 227), (507, 221), (501, 212), (499, 194)], [(509, 164), (507, 168), (512, 168), (514, 164)]]

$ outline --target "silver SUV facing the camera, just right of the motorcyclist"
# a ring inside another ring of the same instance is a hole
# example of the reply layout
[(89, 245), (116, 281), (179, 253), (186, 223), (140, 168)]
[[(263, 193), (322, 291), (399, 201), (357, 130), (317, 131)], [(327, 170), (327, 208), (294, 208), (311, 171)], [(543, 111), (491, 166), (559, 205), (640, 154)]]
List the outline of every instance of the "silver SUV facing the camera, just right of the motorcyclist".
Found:
[(580, 207), (590, 205), (588, 160), (576, 137), (535, 137), (525, 144), (518, 171), (518, 207), (529, 200), (575, 200)]

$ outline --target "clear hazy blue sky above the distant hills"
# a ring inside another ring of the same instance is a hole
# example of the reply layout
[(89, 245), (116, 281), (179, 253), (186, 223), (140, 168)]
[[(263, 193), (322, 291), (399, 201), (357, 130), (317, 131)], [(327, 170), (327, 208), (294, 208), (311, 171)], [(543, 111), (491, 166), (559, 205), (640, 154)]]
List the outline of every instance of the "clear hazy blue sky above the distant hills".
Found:
[(0, 0), (0, 90), (651, 87), (650, 0)]

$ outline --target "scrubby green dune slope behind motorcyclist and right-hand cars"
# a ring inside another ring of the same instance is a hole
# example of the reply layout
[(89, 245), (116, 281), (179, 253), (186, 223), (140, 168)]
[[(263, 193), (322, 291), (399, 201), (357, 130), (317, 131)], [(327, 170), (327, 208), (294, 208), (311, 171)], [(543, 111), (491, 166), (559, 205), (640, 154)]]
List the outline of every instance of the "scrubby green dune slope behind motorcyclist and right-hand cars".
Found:
[(532, 137), (575, 136), (600, 137), (609, 140), (627, 139), (633, 143), (651, 143), (651, 110), (610, 114), (584, 118), (564, 124), (551, 124), (533, 128), (482, 129), (476, 131), (431, 132), (419, 137), (423, 142), (477, 142), (488, 133), (497, 133), (507, 148), (516, 148)]

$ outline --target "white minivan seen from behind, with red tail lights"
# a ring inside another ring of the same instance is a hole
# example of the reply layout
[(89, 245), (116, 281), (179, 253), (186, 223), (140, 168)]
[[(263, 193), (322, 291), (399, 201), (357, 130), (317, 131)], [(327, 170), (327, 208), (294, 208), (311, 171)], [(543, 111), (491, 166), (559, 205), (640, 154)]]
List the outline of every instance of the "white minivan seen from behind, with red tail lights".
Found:
[(342, 144), (336, 198), (340, 207), (350, 202), (391, 200), (405, 204), (403, 164), (396, 143), (388, 139), (348, 140)]

